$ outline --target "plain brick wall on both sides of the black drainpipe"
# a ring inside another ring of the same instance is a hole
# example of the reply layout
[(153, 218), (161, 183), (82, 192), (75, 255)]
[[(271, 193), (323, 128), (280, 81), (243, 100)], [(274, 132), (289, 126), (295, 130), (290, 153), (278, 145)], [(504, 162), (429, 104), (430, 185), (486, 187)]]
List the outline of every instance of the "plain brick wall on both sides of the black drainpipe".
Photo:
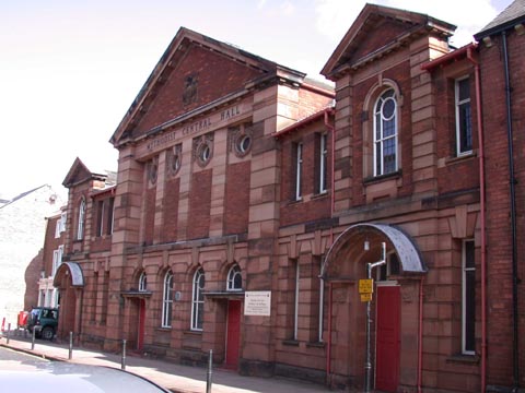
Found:
[[(506, 102), (504, 83), (504, 64), (500, 36), (492, 37), (493, 46), (480, 46), (483, 126), (486, 142), (487, 174), (487, 237), (488, 237), (488, 383), (511, 385), (512, 369), (512, 231), (511, 196), (509, 171), (509, 140), (506, 123)], [(508, 48), (510, 53), (511, 100), (513, 117), (514, 168), (517, 207), (517, 262), (518, 275), (523, 277), (522, 255), (525, 245), (522, 241), (525, 226), (523, 216), (525, 203), (525, 36), (509, 32)], [(518, 299), (524, 299), (523, 286), (518, 286)], [(523, 308), (520, 309), (520, 336), (525, 334)], [(523, 365), (525, 358), (520, 349)], [(523, 371), (522, 371), (523, 376)], [(521, 376), (521, 383), (524, 382)]]

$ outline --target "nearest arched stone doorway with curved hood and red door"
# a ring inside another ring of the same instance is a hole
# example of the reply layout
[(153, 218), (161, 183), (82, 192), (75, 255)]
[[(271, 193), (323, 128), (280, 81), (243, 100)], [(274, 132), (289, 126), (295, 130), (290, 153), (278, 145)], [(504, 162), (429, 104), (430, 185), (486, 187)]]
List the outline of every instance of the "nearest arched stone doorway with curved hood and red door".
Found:
[[(361, 299), (359, 281), (366, 278), (369, 263), (382, 260), (385, 264), (372, 272), (372, 345), (368, 352), (366, 303)], [(419, 367), (421, 326), (413, 321), (420, 317), (417, 289), (424, 273), (427, 267), (416, 242), (398, 227), (358, 224), (338, 236), (322, 269), (329, 286), (327, 372), (332, 381), (343, 380), (362, 389), (371, 378), (372, 388), (385, 392), (416, 385), (411, 376), (417, 376)], [(372, 358), (372, 377), (365, 371), (368, 356)], [(402, 381), (401, 367), (404, 376), (410, 376)], [(413, 372), (407, 373), (407, 368), (413, 368)]]

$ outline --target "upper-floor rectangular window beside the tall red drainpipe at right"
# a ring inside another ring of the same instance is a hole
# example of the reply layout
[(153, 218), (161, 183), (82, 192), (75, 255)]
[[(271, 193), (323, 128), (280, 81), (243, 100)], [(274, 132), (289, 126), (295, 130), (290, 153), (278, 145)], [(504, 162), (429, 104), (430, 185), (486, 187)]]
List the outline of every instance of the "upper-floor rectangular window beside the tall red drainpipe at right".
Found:
[(456, 154), (472, 152), (472, 122), (470, 111), (470, 80), (463, 78), (455, 82), (456, 97)]

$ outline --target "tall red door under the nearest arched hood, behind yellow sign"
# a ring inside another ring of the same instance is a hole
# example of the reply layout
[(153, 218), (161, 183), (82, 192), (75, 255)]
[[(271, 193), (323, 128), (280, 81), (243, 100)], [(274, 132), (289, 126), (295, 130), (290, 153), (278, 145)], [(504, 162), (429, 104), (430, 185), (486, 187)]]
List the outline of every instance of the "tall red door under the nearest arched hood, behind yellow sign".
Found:
[(377, 287), (375, 389), (396, 392), (399, 384), (400, 290)]

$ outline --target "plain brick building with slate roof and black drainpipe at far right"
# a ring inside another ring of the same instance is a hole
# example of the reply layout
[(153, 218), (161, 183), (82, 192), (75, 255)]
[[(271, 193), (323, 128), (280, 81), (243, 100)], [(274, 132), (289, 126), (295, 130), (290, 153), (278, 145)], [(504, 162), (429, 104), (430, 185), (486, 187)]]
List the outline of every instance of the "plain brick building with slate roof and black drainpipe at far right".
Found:
[(476, 34), (485, 135), (487, 380), (525, 385), (525, 0)]

